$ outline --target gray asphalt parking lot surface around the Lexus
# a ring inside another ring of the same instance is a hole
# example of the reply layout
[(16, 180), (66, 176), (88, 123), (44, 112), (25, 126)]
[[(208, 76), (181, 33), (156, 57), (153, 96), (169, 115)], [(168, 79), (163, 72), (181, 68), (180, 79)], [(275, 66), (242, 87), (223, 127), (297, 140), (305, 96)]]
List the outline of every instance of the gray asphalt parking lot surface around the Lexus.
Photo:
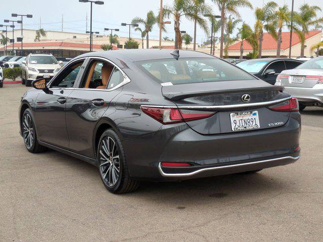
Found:
[(113, 195), (96, 167), (25, 149), (18, 133), (25, 90), (0, 89), (1, 241), (322, 241), (323, 108), (302, 112), (295, 164), (143, 183), (137, 192)]

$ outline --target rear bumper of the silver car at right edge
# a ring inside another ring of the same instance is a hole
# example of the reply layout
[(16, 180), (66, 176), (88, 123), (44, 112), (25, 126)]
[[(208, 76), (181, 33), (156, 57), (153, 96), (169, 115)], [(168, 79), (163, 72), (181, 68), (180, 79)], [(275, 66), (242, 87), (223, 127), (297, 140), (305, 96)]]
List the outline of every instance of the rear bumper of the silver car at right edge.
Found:
[(303, 103), (319, 103), (323, 105), (323, 85), (317, 84), (312, 88), (285, 87), (285, 91)]

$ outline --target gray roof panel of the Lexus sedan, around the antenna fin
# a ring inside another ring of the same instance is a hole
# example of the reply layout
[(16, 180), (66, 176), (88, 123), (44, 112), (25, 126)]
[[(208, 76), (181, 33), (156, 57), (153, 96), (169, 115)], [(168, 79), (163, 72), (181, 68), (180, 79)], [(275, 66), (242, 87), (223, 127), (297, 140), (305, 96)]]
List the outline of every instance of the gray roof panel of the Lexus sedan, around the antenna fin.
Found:
[[(150, 59), (167, 59), (174, 57), (171, 53), (174, 49), (122, 49), (122, 50), (107, 50), (101, 52), (90, 52), (82, 54), (78, 57), (100, 56), (105, 58), (127, 58), (132, 62), (147, 61)], [(212, 55), (192, 50), (179, 50), (179, 57), (201, 57), (201, 58), (217, 58)]]

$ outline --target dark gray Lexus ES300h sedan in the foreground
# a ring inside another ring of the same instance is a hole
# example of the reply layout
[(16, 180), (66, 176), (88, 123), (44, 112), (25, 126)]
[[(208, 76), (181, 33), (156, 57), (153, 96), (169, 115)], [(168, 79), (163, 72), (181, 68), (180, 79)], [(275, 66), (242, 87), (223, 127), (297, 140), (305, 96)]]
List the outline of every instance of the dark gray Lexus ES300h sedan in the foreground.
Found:
[(253, 173), (300, 156), (297, 99), (205, 53), (91, 52), (32, 85), (19, 109), (27, 150), (87, 161), (113, 193), (140, 180)]

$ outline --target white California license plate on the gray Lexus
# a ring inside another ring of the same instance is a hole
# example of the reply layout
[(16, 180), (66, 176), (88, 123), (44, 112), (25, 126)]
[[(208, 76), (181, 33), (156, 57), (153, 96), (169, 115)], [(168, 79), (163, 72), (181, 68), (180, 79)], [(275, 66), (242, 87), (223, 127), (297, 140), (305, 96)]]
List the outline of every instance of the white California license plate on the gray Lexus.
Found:
[(232, 131), (260, 129), (258, 111), (230, 113)]

